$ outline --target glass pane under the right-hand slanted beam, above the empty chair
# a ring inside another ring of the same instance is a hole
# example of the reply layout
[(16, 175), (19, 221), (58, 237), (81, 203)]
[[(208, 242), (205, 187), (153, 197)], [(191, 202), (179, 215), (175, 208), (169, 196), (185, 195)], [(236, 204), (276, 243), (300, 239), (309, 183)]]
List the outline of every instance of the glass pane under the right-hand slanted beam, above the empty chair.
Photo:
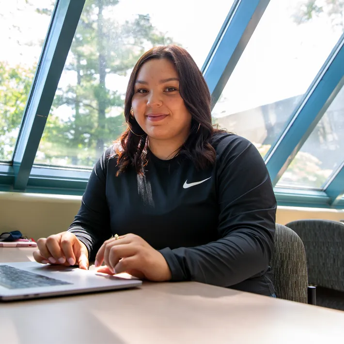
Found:
[(278, 187), (323, 188), (344, 161), (344, 87), (303, 144)]

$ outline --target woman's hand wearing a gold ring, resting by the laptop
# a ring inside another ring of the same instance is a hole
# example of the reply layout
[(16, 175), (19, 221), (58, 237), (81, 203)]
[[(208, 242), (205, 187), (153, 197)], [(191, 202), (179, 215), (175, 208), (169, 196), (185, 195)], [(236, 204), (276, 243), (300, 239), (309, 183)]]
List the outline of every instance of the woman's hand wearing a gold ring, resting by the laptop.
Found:
[(101, 266), (103, 261), (106, 266), (99, 268), (99, 272), (127, 272), (150, 281), (171, 280), (171, 271), (163, 255), (138, 235), (126, 234), (117, 240), (105, 241), (95, 256), (95, 267)]

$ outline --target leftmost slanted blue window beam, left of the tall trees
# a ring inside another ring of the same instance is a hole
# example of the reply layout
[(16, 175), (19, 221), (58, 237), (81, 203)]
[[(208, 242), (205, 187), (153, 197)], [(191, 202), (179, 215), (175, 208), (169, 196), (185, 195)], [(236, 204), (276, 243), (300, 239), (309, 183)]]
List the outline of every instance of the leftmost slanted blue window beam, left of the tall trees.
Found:
[(85, 0), (56, 0), (13, 155), (13, 189), (24, 191)]

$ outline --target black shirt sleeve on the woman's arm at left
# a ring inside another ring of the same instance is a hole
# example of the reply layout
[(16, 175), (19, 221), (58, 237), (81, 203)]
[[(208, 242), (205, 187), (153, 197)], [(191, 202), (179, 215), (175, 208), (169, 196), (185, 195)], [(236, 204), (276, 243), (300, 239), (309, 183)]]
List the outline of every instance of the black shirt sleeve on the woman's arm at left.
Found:
[(111, 236), (109, 207), (106, 200), (108, 149), (94, 165), (78, 214), (68, 232), (74, 233), (88, 250), (89, 258)]

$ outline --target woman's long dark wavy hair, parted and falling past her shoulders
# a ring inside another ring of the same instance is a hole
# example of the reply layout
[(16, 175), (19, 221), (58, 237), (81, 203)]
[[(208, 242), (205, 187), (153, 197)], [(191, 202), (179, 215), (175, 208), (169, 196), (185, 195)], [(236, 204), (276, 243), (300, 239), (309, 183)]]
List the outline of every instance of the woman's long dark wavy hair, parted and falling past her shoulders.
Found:
[(211, 96), (203, 75), (191, 55), (184, 48), (175, 45), (158, 46), (141, 56), (130, 75), (124, 108), (125, 122), (128, 127), (122, 134), (116, 151), (118, 155), (117, 175), (124, 172), (128, 166), (133, 166), (136, 172), (141, 174), (147, 163), (147, 134), (130, 116), (130, 110), (135, 81), (140, 68), (152, 59), (168, 59), (174, 64), (179, 76), (180, 95), (192, 116), (188, 139), (177, 153), (191, 159), (198, 169), (204, 169), (214, 164), (216, 152), (209, 143), (209, 139), (214, 133), (224, 130), (215, 129), (212, 125)]

